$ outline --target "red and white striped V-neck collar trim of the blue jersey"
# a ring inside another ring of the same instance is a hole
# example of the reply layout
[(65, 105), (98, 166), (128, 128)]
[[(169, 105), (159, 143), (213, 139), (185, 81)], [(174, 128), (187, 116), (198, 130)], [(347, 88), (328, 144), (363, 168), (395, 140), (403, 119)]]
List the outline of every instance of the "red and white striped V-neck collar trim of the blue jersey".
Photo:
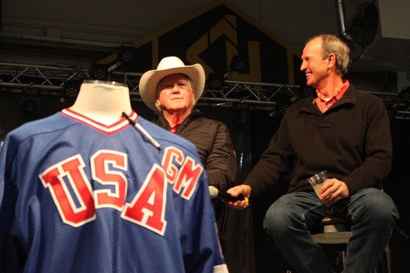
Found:
[[(92, 120), (82, 114), (79, 114), (77, 112), (71, 111), (68, 108), (65, 108), (61, 111), (61, 113), (69, 118), (72, 118), (76, 121), (82, 122), (84, 124), (89, 125), (90, 127), (94, 128), (97, 131), (100, 131), (104, 134), (111, 135), (114, 134), (115, 132), (118, 132), (130, 125), (129, 121), (125, 117), (121, 117), (121, 119), (111, 125), (105, 125), (100, 122), (97, 122), (95, 120)], [(136, 114), (134, 111), (132, 111), (129, 114), (129, 117), (136, 121), (138, 119), (138, 114)]]

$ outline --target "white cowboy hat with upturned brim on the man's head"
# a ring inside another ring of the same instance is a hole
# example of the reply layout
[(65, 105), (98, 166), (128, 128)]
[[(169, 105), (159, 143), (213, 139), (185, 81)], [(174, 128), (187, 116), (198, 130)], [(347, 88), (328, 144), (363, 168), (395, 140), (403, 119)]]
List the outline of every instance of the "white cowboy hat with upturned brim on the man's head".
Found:
[(205, 71), (200, 64), (185, 66), (184, 62), (175, 56), (165, 57), (158, 64), (157, 70), (145, 72), (140, 79), (140, 95), (144, 103), (155, 110), (155, 93), (158, 82), (171, 74), (185, 74), (193, 82), (194, 99), (197, 102), (205, 87)]

